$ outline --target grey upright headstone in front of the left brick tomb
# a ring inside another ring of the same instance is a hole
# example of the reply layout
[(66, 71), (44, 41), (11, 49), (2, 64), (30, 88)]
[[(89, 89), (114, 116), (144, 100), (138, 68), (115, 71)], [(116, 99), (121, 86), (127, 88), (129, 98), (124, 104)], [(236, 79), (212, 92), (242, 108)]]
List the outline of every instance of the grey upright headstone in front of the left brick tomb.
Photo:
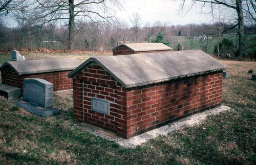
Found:
[(43, 79), (24, 79), (23, 100), (35, 106), (51, 108), (53, 84)]

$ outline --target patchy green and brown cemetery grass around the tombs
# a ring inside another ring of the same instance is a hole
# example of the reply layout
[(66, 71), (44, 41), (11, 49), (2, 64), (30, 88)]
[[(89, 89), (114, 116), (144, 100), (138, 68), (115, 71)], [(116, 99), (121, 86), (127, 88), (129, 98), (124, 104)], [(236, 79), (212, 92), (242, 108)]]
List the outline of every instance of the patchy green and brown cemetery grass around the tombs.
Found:
[[(91, 55), (28, 54), (26, 59)], [(0, 64), (10, 57), (0, 54)], [(136, 149), (84, 131), (72, 114), (72, 91), (56, 92), (61, 114), (40, 118), (0, 97), (0, 164), (255, 164), (256, 82), (249, 69), (255, 62), (221, 61), (230, 78), (224, 80), (223, 104), (233, 111), (150, 140)]]

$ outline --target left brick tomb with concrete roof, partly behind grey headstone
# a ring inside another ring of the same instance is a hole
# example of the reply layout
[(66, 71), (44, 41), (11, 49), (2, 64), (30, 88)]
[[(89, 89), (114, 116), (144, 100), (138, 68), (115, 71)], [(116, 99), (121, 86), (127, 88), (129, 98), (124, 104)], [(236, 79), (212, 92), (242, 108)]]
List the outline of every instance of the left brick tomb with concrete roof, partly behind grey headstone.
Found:
[(72, 79), (67, 75), (79, 64), (74, 58), (9, 61), (0, 67), (2, 83), (23, 92), (24, 79), (40, 78), (53, 83), (54, 91), (72, 89)]

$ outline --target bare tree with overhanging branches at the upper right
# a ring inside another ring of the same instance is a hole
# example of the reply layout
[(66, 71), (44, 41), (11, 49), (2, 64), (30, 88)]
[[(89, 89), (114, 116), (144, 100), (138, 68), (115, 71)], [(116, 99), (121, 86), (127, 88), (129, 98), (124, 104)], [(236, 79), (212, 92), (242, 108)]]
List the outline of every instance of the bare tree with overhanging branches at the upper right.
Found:
[[(253, 0), (252, 0), (253, 1)], [(238, 26), (238, 36), (239, 36), (239, 46), (238, 46), (238, 57), (244, 56), (244, 12), (247, 12), (249, 15), (252, 15), (252, 18), (255, 18), (252, 14), (252, 10), (255, 13), (255, 2), (253, 3), (250, 0), (192, 0), (192, 4), (190, 5), (191, 9), (196, 3), (201, 3), (202, 8), (207, 4), (211, 8), (211, 13), (214, 13), (214, 9), (216, 5), (223, 6), (227, 9), (236, 11), (237, 13), (237, 23), (232, 28)], [(181, 7), (184, 9), (185, 3), (187, 0), (182, 0)], [(247, 6), (246, 6), (247, 5)]]

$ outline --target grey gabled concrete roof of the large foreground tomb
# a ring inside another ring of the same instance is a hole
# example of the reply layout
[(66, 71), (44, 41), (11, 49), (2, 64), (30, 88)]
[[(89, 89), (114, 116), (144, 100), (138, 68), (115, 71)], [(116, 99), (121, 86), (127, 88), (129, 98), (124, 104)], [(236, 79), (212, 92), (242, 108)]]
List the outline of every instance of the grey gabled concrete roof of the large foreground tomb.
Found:
[(68, 76), (73, 77), (96, 62), (123, 87), (135, 87), (223, 70), (225, 65), (201, 50), (145, 53), (125, 56), (95, 56)]

